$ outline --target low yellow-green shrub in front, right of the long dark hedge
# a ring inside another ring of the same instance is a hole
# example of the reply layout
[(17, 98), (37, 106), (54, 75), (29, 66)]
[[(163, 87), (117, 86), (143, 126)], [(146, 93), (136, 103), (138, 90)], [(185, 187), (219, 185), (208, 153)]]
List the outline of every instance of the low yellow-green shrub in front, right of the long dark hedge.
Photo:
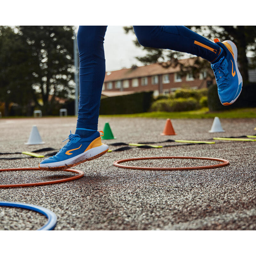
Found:
[(198, 109), (199, 103), (196, 99), (193, 98), (178, 98), (178, 99), (163, 99), (156, 100), (152, 106), (151, 111), (189, 111)]

